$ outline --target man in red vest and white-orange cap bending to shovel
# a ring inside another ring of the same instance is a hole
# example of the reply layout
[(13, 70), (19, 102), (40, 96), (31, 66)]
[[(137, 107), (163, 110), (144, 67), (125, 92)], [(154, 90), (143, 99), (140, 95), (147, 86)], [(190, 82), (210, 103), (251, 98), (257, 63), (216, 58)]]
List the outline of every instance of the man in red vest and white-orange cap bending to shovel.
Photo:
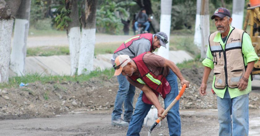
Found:
[[(122, 73), (132, 85), (142, 90), (129, 123), (128, 136), (139, 136), (145, 116), (152, 104), (158, 109), (158, 117), (162, 117), (164, 108), (167, 108), (179, 94), (177, 77), (180, 79), (181, 86), (185, 83), (189, 87), (189, 82), (183, 78), (173, 62), (154, 53), (145, 52), (132, 60), (128, 55), (119, 55), (113, 67), (115, 75)], [(159, 103), (159, 95), (164, 99), (164, 108)], [(169, 134), (180, 136), (179, 102), (171, 108), (166, 117)]]

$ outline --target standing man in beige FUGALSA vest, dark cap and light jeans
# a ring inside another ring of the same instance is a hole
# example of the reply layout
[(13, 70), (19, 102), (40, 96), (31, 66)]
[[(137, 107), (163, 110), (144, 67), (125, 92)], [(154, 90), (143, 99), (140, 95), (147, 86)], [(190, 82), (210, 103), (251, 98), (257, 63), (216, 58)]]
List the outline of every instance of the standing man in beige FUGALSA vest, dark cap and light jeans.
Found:
[(250, 73), (258, 56), (249, 35), (230, 26), (232, 18), (226, 8), (218, 8), (211, 19), (218, 31), (209, 36), (199, 93), (206, 95), (207, 80), (214, 69), (212, 88), (217, 94), (219, 136), (248, 136)]

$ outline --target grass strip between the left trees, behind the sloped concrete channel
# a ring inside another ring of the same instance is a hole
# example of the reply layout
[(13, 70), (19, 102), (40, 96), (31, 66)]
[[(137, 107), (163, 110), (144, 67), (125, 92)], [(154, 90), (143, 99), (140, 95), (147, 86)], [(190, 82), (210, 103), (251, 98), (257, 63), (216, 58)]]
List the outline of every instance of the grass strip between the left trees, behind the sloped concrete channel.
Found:
[(42, 46), (36, 48), (27, 48), (26, 56), (52, 56), (69, 54), (70, 50), (67, 46)]

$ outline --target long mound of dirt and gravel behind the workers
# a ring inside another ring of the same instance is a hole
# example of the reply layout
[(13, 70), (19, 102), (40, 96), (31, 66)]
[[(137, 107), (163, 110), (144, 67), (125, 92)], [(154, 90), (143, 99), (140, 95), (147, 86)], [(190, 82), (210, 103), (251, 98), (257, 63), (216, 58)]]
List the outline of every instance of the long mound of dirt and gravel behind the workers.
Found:
[[(193, 70), (193, 73), (197, 72)], [(184, 95), (180, 98), (180, 109), (217, 108), (216, 96), (211, 93), (206, 96), (199, 95), (198, 81), (199, 79), (192, 80), (190, 87), (185, 90)], [(42, 84), (35, 82), (22, 88), (4, 88), (0, 91), (0, 119), (51, 117), (73, 111), (112, 109), (117, 90), (116, 77), (107, 79), (106, 76), (84, 83), (64, 81)], [(134, 105), (139, 94), (140, 90), (137, 89)], [(259, 93), (250, 93), (250, 108), (260, 108), (259, 98)], [(163, 105), (161, 97), (159, 97), (159, 101)]]

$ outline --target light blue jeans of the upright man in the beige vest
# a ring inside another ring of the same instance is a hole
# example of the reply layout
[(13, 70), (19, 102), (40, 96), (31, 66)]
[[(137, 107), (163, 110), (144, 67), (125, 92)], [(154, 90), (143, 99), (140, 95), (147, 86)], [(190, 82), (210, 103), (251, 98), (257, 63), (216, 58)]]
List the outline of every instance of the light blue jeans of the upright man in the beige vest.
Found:
[[(230, 99), (228, 89), (226, 89), (223, 99), (217, 97), (219, 136), (248, 136), (248, 130), (249, 130), (248, 95), (249, 94)], [(232, 128), (232, 120), (233, 120), (233, 128)]]

